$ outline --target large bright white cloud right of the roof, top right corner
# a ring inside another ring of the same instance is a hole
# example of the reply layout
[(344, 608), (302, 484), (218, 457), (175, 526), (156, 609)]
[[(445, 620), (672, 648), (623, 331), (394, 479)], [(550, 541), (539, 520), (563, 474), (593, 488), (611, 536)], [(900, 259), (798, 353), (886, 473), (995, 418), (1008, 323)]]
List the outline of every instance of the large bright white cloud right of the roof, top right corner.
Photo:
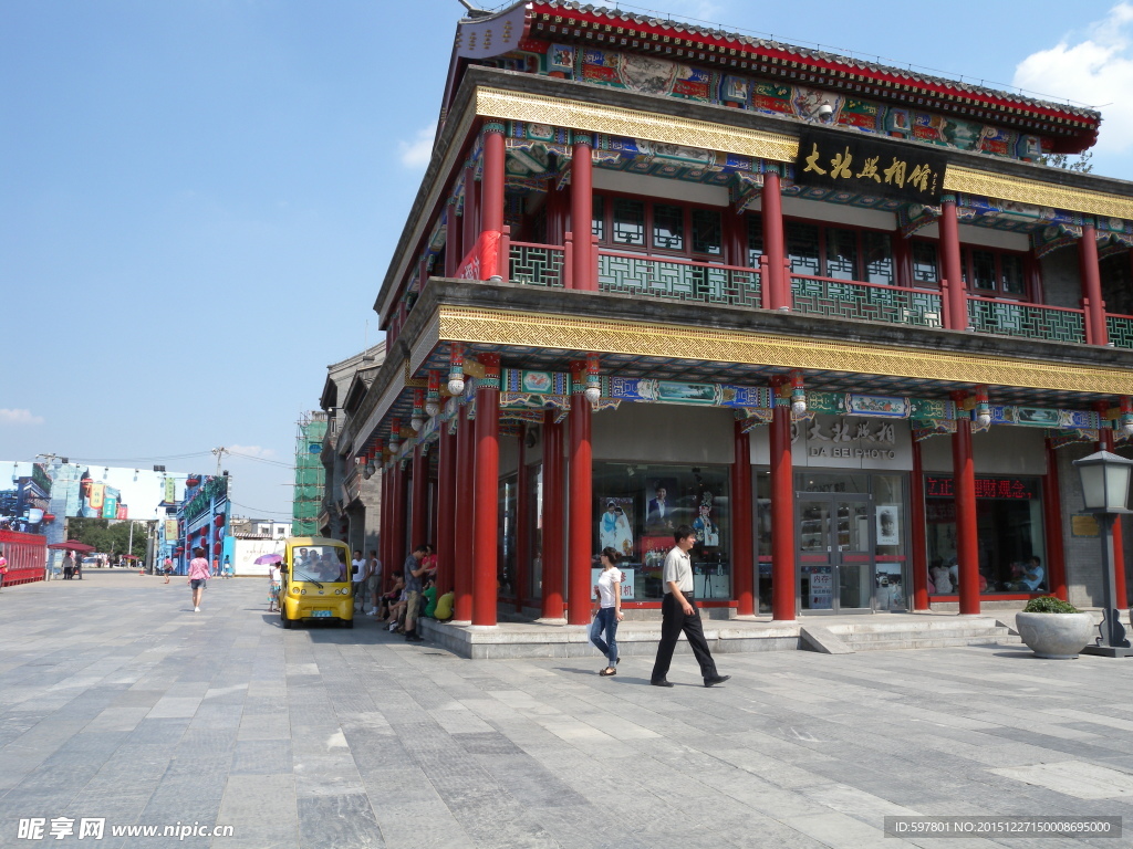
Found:
[(1014, 85), (1050, 97), (1098, 106), (1104, 118), (1096, 148), (1119, 153), (1133, 146), (1133, 3), (1114, 6), (1101, 20), (1063, 36), (1049, 50), (1015, 68)]

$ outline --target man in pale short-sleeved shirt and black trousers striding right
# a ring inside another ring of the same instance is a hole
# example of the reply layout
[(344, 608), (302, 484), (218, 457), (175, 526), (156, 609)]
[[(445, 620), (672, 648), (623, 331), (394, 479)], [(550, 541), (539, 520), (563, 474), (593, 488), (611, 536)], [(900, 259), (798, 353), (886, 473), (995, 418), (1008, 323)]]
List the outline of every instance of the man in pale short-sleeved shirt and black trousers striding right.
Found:
[(654, 662), (649, 683), (655, 687), (673, 686), (665, 676), (668, 675), (673, 650), (683, 631), (684, 638), (689, 641), (689, 648), (700, 664), (705, 686), (723, 684), (732, 676), (716, 671), (716, 661), (708, 651), (708, 641), (705, 640), (705, 632), (700, 625), (700, 611), (692, 597), (692, 558), (689, 557), (689, 551), (696, 544), (697, 532), (689, 525), (680, 525), (673, 531), (673, 539), (676, 544), (665, 557), (661, 575), (662, 584), (665, 586), (665, 598), (661, 602), (661, 642), (657, 644), (657, 660)]

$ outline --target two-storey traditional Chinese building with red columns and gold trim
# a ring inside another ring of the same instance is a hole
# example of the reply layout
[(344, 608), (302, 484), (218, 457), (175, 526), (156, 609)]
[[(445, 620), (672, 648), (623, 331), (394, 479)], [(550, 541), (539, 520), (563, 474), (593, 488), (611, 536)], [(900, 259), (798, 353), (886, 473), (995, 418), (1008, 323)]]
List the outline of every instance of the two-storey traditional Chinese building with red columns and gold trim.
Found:
[(1100, 601), (1070, 461), (1133, 430), (1133, 185), (1043, 164), (1100, 120), (589, 6), (460, 22), (338, 437), (384, 561), (435, 542), (476, 625), (586, 621), (605, 546), (655, 609), (682, 523), (714, 616)]

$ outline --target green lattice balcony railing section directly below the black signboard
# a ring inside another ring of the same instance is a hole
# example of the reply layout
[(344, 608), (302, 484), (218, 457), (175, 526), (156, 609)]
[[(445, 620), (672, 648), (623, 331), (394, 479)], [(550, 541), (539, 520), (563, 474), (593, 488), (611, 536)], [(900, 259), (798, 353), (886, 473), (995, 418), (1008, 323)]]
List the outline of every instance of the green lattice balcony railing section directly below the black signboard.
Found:
[(858, 283), (830, 277), (791, 276), (795, 312), (864, 321), (943, 327), (939, 292)]

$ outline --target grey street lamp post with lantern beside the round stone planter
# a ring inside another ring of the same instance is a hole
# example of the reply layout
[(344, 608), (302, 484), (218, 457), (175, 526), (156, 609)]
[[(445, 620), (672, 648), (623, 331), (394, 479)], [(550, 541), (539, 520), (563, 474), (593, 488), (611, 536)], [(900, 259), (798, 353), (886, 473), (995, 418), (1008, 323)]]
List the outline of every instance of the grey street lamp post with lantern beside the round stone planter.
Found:
[(1108, 451), (1099, 451), (1088, 457), (1075, 460), (1074, 465), (1082, 480), (1085, 512), (1094, 514), (1101, 525), (1101, 586), (1105, 602), (1097, 644), (1085, 646), (1082, 653), (1126, 658), (1133, 654), (1133, 648), (1130, 646), (1117, 614), (1114, 569), (1125, 568), (1125, 564), (1114, 563), (1114, 518), (1133, 512), (1125, 506), (1128, 501), (1130, 471), (1133, 470), (1133, 461)]

